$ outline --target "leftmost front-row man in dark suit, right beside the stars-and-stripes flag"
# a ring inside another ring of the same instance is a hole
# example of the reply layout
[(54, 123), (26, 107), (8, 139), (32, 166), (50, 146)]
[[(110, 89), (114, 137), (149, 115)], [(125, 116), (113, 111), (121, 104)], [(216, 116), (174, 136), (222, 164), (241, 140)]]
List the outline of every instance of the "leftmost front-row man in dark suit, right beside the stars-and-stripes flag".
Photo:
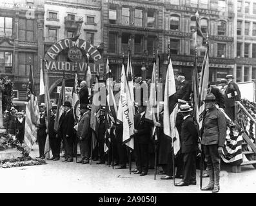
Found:
[(46, 118), (46, 113), (44, 112), (44, 103), (41, 103), (39, 105), (39, 124), (37, 124), (37, 142), (38, 142), (38, 147), (39, 147), (39, 156), (37, 158), (41, 158), (44, 159), (45, 155), (44, 155), (44, 146), (45, 146), (45, 142), (46, 142), (46, 122), (45, 122), (45, 118)]

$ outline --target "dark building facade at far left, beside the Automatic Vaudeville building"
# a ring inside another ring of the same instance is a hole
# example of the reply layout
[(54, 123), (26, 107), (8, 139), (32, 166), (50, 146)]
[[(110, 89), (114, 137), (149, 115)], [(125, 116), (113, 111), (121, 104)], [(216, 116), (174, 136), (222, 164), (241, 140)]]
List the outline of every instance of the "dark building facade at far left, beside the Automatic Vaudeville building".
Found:
[[(20, 0), (0, 2), (0, 75), (14, 82), (14, 105), (24, 109), (26, 84), (31, 66), (39, 75), (43, 55), (43, 1)], [(39, 82), (35, 80), (35, 86)]]

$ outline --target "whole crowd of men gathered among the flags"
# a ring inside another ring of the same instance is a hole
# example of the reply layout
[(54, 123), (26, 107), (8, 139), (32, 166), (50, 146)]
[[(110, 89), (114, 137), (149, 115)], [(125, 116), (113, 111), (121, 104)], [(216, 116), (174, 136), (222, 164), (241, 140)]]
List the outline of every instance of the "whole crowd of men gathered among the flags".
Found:
[[(226, 79), (221, 80), (221, 89), (209, 84), (208, 95), (204, 100), (207, 112), (204, 115), (202, 129), (201, 131), (198, 131), (192, 114), (192, 85), (185, 79), (184, 73), (176, 75), (175, 80), (176, 93), (174, 99), (175, 102), (179, 104), (176, 127), (181, 142), (181, 149), (175, 156), (175, 167), (177, 167), (176, 174), (173, 174), (172, 139), (164, 135), (163, 132), (163, 102), (159, 103), (160, 118), (159, 122), (155, 123), (158, 138), (155, 140), (155, 137), (153, 137), (151, 133), (153, 125), (145, 118), (146, 103), (143, 100), (143, 97), (141, 97), (140, 104), (135, 106), (135, 136), (132, 158), (135, 160), (136, 167), (132, 172), (144, 176), (148, 174), (149, 169), (154, 169), (154, 147), (157, 145), (157, 165), (162, 168), (162, 171), (159, 171), (159, 174), (164, 174), (164, 176), (161, 177), (161, 180), (172, 180), (173, 176), (175, 176), (175, 178), (182, 179), (181, 182), (175, 184), (176, 186), (196, 185), (196, 162), (199, 151), (202, 149), (205, 154), (204, 161), (207, 165), (206, 171), (210, 178), (209, 184), (206, 187), (203, 187), (202, 190), (218, 192), (221, 162), (220, 154), (226, 138), (226, 118), (218, 108), (223, 108), (228, 117), (230, 117), (231, 120), (234, 120), (235, 101), (240, 100), (241, 93), (237, 84), (233, 82), (232, 75), (227, 75)], [(149, 82), (150, 80), (147, 82), (143, 81), (139, 75), (135, 76), (134, 95), (139, 92), (143, 96), (143, 89), (146, 89), (148, 92)], [(118, 87), (119, 85), (115, 84), (115, 86)], [(57, 105), (52, 105), (48, 129), (46, 129), (45, 124), (46, 113), (44, 111), (44, 105), (41, 104), (39, 106), (40, 124), (37, 125), (37, 142), (39, 144), (38, 158), (45, 158), (44, 145), (48, 133), (52, 151), (52, 158), (50, 158), (50, 160), (60, 160), (61, 145), (63, 145), (63, 162), (73, 162), (78, 143), (81, 154), (79, 161), (77, 162), (78, 164), (88, 164), (90, 158), (92, 158), (93, 160), (98, 160), (97, 164), (109, 165), (110, 162), (112, 162), (115, 165), (115, 169), (126, 169), (128, 164), (128, 151), (123, 144), (123, 126), (121, 124), (116, 124), (111, 128), (114, 131), (114, 135), (111, 136), (112, 146), (108, 150), (108, 153), (104, 153), (106, 134), (104, 106), (102, 106), (100, 110), (99, 128), (95, 134), (97, 138), (97, 146), (94, 151), (92, 151), (91, 156), (93, 131), (90, 128), (90, 103), (92, 103), (92, 98), (90, 98), (90, 91), (87, 88), (85, 81), (80, 83), (80, 87), (81, 117), (79, 122), (77, 122), (77, 131), (74, 129), (76, 122), (72, 104), (69, 101), (65, 101), (63, 104), (64, 112), (59, 119), (59, 129), (57, 131), (54, 130)], [(120, 89), (113, 90), (115, 101), (118, 106)], [(19, 116), (15, 117), (15, 122), (21, 122)], [(12, 124), (13, 123), (10, 120), (7, 126), (7, 129), (10, 129), (9, 132), (14, 135), (21, 134), (21, 131), (19, 131), (19, 134), (17, 133), (17, 130), (16, 133), (15, 131), (12, 131)], [(24, 126), (22, 134), (24, 136)], [(199, 140), (199, 136), (201, 137), (201, 140)], [(201, 142), (201, 148), (199, 147), (199, 142)]]

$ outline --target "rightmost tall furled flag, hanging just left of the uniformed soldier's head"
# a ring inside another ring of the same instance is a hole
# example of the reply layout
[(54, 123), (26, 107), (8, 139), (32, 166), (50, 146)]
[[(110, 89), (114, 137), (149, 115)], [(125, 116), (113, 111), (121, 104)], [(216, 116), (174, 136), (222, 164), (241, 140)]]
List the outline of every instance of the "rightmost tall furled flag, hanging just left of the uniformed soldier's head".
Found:
[(204, 99), (208, 93), (208, 84), (209, 84), (209, 47), (206, 48), (206, 53), (204, 56), (204, 61), (202, 62), (202, 71), (201, 79), (199, 82), (199, 95), (200, 95), (200, 104), (199, 104), (199, 129), (202, 127), (202, 118), (205, 113), (205, 104)]

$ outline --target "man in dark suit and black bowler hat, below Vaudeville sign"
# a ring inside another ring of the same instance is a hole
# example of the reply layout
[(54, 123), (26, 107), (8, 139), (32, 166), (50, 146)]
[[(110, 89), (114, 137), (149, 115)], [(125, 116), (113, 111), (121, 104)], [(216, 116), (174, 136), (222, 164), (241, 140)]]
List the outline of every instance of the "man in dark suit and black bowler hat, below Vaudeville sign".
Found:
[(72, 105), (69, 101), (65, 101), (64, 112), (59, 119), (59, 134), (63, 138), (64, 142), (64, 160), (63, 162), (73, 162), (74, 151), (74, 114), (72, 111)]

